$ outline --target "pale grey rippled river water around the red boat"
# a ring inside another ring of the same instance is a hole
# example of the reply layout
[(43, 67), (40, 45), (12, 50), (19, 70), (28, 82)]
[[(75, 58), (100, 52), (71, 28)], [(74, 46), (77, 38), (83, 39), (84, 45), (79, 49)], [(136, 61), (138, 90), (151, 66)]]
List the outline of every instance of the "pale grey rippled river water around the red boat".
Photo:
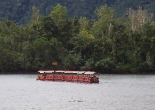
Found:
[(0, 75), (0, 110), (155, 110), (155, 75), (100, 75), (99, 84)]

